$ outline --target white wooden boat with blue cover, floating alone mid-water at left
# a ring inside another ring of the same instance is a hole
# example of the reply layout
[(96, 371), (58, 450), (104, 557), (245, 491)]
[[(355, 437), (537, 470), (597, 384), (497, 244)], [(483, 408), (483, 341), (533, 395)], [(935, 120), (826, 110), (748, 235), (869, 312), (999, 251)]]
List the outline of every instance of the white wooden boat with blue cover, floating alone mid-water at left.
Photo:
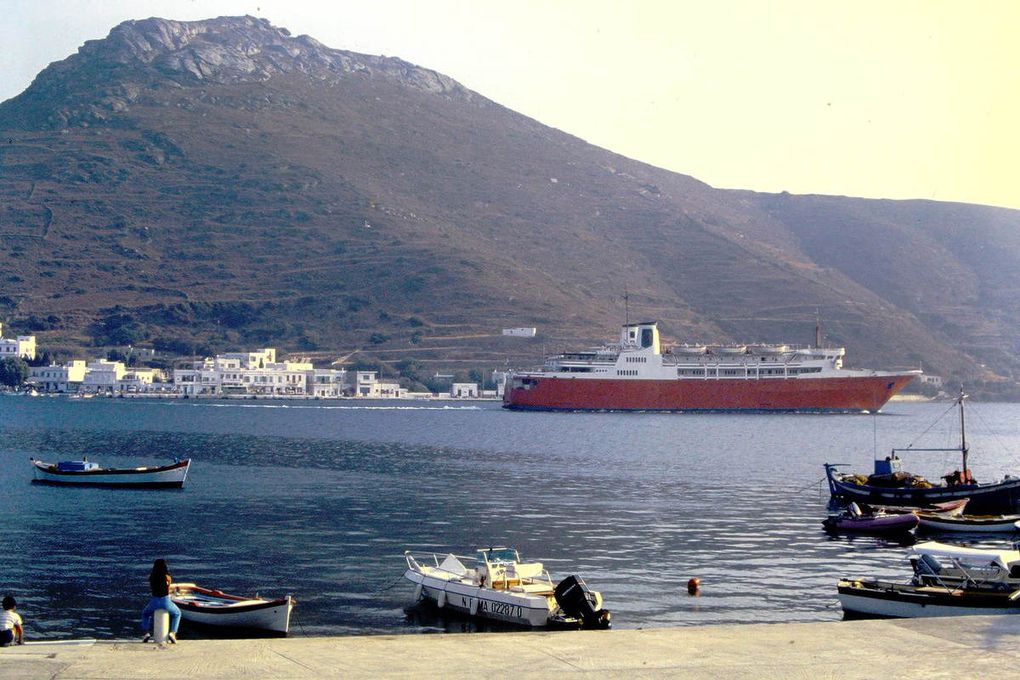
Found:
[(104, 468), (88, 459), (59, 463), (32, 459), (32, 464), (35, 475), (32, 481), (41, 484), (172, 488), (184, 486), (191, 459), (136, 468)]

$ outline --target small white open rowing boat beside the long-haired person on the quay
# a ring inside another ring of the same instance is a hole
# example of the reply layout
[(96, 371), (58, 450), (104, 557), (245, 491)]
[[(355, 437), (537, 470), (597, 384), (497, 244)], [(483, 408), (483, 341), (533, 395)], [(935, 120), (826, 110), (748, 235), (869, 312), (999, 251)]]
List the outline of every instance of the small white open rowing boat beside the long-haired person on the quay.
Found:
[(232, 595), (194, 583), (174, 583), (170, 599), (181, 608), (181, 618), (190, 623), (220, 628), (258, 630), (286, 635), (291, 627), (294, 598), (266, 599)]

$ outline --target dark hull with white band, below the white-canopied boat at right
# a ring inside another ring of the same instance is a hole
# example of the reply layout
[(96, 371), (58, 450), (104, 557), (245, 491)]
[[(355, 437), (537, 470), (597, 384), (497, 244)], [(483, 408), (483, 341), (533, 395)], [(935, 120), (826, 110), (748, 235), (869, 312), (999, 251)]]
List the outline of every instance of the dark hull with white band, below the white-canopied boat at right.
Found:
[(1010, 600), (1008, 591), (960, 591), (877, 580), (840, 580), (836, 587), (839, 605), (850, 618), (1020, 614), (1020, 603)]

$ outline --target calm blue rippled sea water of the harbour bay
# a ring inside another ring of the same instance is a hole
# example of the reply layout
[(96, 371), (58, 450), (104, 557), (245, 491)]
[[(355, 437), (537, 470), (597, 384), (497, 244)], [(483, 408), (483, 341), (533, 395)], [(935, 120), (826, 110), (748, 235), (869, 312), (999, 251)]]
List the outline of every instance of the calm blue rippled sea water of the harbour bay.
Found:
[[(293, 593), (292, 635), (471, 630), (405, 612), (403, 553), (505, 544), (554, 579), (583, 576), (619, 628), (837, 620), (837, 577), (909, 568), (902, 543), (822, 531), (822, 463), (867, 470), (876, 450), (914, 441), (948, 408), (551, 414), (0, 396), (0, 591), (16, 595), (33, 638), (134, 636), (162, 557), (178, 581)], [(978, 479), (1020, 472), (1020, 405), (968, 415)], [(953, 436), (936, 426), (917, 446)], [(194, 463), (181, 490), (30, 482), (30, 457), (83, 455)], [(958, 467), (942, 454), (907, 462), (929, 477)], [(700, 597), (686, 593), (692, 576)]]

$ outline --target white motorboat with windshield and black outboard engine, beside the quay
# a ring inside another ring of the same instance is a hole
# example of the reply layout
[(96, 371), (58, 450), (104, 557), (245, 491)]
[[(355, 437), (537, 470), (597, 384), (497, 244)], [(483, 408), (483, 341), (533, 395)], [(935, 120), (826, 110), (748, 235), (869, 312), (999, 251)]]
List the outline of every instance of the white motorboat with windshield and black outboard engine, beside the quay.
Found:
[(415, 584), (415, 600), (527, 627), (610, 627), (602, 595), (580, 577), (568, 576), (554, 585), (541, 562), (522, 562), (513, 548), (489, 547), (473, 558), (448, 554), (442, 559), (435, 554), (415, 557), (408, 551), (404, 558), (404, 578)]

